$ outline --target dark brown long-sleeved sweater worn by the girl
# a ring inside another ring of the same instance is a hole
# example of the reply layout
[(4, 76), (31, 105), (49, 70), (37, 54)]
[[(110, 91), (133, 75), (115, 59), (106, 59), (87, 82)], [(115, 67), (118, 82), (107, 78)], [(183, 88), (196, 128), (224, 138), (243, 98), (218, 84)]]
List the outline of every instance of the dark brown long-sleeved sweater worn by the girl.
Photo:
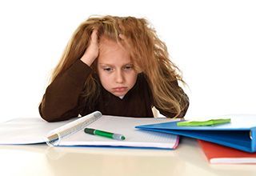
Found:
[[(58, 78), (55, 78), (54, 82), (47, 87), (39, 106), (39, 113), (42, 118), (48, 122), (57, 122), (78, 117), (78, 114), (84, 116), (95, 110), (101, 111), (104, 115), (153, 117), (151, 108), (154, 103), (144, 74), (138, 74), (134, 87), (122, 99), (110, 94), (101, 86), (101, 93), (95, 106), (89, 108), (81, 93), (86, 78), (91, 73), (90, 66), (78, 60)], [(188, 98), (186, 104), (187, 107), (182, 111), (180, 117), (186, 114), (189, 104)], [(166, 117), (174, 117), (174, 114), (158, 110)]]

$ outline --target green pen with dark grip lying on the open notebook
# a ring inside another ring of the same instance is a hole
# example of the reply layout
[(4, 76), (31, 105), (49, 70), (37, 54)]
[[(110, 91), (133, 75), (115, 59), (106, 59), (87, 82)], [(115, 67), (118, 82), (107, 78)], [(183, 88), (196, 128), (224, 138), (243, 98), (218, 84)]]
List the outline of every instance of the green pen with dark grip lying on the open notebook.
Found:
[(84, 131), (86, 134), (94, 134), (94, 135), (98, 135), (98, 136), (102, 136), (102, 137), (106, 137), (106, 138), (113, 138), (116, 140), (125, 140), (126, 139), (124, 137), (124, 135), (122, 135), (122, 134), (114, 134), (114, 133), (106, 132), (103, 130), (95, 130), (92, 128), (85, 128)]

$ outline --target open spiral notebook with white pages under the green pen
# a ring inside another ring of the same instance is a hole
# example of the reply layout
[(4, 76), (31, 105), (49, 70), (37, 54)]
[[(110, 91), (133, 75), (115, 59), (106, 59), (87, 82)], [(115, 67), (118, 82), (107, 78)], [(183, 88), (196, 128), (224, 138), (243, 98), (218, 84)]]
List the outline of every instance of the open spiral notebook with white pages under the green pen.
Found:
[[(176, 119), (177, 120), (177, 119)], [(96, 111), (85, 117), (65, 122), (46, 122), (41, 118), (15, 118), (0, 123), (0, 144), (37, 144), (50, 146), (123, 146), (174, 149), (178, 136), (137, 130), (134, 126), (155, 122), (173, 122), (170, 118), (125, 118), (106, 116)], [(123, 134), (126, 140), (118, 141), (85, 134), (85, 127)]]

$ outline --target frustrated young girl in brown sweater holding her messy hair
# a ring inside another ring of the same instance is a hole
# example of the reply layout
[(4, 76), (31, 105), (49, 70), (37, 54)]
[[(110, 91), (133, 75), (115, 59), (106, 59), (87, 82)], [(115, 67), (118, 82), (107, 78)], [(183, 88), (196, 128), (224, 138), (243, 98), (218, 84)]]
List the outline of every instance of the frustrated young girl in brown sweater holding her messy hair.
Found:
[(144, 18), (92, 17), (74, 32), (39, 106), (48, 122), (105, 115), (182, 118), (189, 99), (167, 48)]

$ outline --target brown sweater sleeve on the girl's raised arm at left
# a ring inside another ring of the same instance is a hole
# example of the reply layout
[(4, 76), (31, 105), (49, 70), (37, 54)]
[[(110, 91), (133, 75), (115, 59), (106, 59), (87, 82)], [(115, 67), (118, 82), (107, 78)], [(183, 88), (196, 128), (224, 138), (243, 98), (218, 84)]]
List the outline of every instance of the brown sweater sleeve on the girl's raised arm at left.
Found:
[(47, 122), (78, 117), (81, 111), (78, 105), (79, 95), (91, 72), (90, 66), (79, 59), (63, 74), (58, 75), (43, 95), (39, 106), (41, 117)]

